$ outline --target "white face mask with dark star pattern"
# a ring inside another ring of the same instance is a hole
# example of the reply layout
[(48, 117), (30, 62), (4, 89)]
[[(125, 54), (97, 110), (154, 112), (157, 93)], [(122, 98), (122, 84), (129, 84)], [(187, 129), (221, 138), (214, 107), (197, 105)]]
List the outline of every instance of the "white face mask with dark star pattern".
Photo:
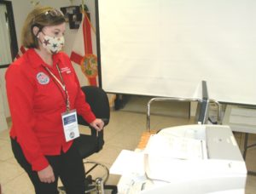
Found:
[(43, 47), (49, 54), (56, 54), (61, 51), (64, 46), (64, 37), (49, 37), (44, 35)]

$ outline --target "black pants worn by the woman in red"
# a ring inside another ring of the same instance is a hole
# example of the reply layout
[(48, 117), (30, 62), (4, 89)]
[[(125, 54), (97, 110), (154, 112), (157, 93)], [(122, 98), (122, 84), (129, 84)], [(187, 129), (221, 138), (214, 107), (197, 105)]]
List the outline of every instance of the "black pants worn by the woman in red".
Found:
[(68, 194), (84, 194), (84, 164), (82, 158), (79, 156), (79, 151), (74, 145), (66, 153), (61, 153), (61, 155), (45, 156), (55, 174), (55, 182), (53, 183), (41, 182), (38, 178), (38, 172), (33, 171), (31, 164), (26, 161), (19, 143), (11, 138), (11, 145), (16, 160), (25, 169), (37, 194), (59, 193), (57, 190), (59, 177)]

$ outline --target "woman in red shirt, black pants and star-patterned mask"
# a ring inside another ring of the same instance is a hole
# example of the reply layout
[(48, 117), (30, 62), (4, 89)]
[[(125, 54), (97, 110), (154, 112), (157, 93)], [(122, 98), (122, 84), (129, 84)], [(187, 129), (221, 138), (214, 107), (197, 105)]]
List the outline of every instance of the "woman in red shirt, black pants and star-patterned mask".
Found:
[(13, 126), (12, 149), (36, 193), (58, 193), (60, 177), (67, 193), (84, 193), (84, 165), (73, 139), (79, 136), (76, 113), (96, 130), (103, 122), (84, 100), (64, 45), (60, 10), (39, 7), (28, 14), (22, 44), (29, 48), (6, 72)]

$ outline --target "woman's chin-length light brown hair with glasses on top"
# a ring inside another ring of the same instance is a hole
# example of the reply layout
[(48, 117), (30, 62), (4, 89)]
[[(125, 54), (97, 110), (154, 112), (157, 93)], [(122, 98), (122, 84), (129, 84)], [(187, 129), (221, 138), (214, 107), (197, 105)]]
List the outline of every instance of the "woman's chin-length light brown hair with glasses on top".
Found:
[(21, 43), (26, 48), (38, 48), (38, 37), (33, 33), (33, 27), (37, 26), (41, 31), (44, 26), (55, 26), (65, 22), (61, 10), (51, 7), (37, 7), (26, 17), (21, 32)]

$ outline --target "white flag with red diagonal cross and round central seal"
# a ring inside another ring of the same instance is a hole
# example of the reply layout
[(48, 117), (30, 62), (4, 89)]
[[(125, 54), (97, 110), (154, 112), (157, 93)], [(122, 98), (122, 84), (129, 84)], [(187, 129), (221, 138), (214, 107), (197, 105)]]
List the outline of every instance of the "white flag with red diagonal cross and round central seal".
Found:
[[(83, 85), (98, 86), (98, 66), (96, 57), (96, 32), (90, 24), (88, 14), (83, 14), (83, 20), (73, 43), (70, 55), (79, 82)], [(80, 76), (81, 72), (83, 78)]]

